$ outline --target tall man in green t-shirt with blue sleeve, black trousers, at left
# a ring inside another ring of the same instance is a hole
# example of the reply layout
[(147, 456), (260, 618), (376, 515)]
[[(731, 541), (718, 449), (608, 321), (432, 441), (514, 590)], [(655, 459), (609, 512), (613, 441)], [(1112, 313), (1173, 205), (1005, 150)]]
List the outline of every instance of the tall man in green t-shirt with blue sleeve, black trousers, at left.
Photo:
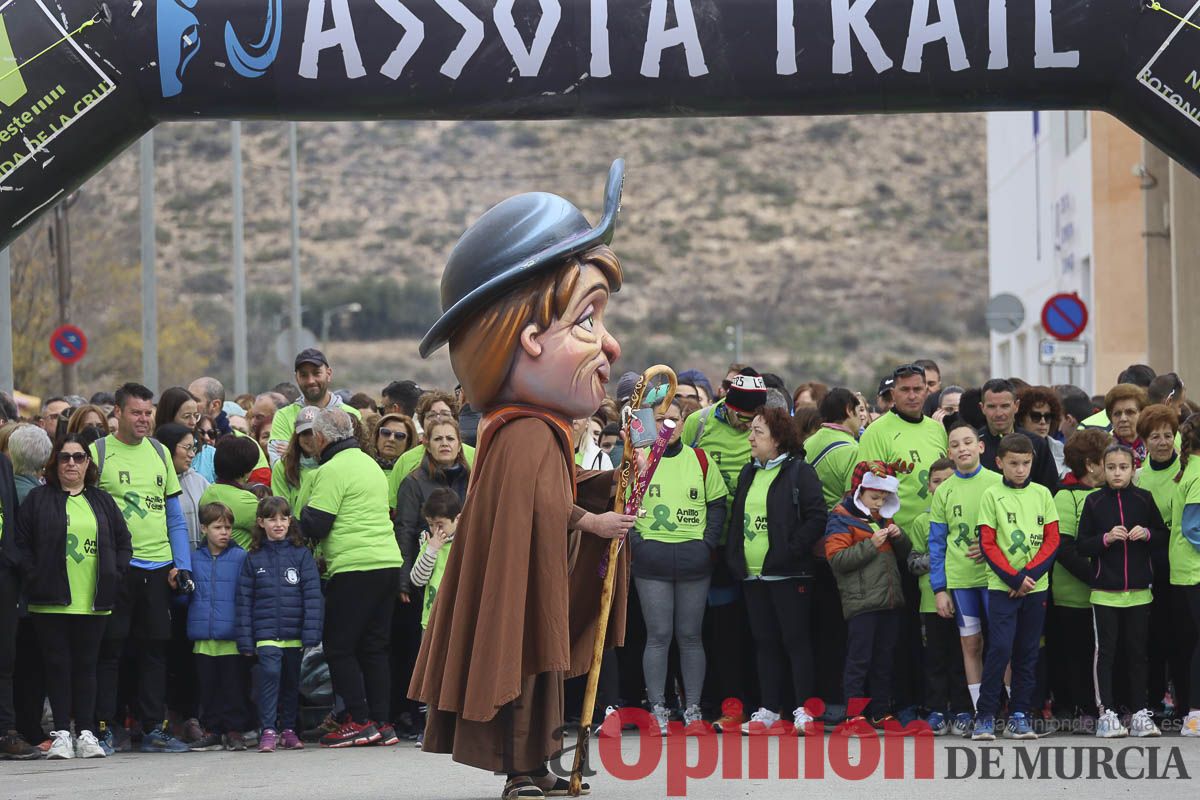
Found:
[(179, 476), (163, 445), (150, 438), (154, 393), (128, 383), (116, 390), (116, 433), (91, 445), (100, 488), (116, 501), (133, 540), (125, 590), (109, 618), (96, 668), (100, 739), (112, 745), (118, 667), (125, 640), (137, 643), (143, 752), (187, 752), (167, 728), (167, 642), (172, 589), (191, 591), (192, 554), (179, 505)]

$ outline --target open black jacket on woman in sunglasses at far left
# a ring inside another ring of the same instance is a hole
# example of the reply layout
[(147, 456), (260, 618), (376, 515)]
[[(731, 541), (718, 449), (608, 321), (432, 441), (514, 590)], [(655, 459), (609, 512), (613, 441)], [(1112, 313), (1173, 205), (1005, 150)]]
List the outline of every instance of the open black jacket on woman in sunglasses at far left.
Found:
[[(133, 545), (116, 503), (108, 492), (84, 487), (83, 497), (96, 515), (96, 596), (94, 610), (116, 606), (118, 587), (130, 569)], [(7, 516), (7, 515), (5, 515)], [(25, 579), (25, 596), (41, 606), (71, 604), (67, 579), (67, 493), (38, 486), (25, 497), (17, 513), (17, 549)]]

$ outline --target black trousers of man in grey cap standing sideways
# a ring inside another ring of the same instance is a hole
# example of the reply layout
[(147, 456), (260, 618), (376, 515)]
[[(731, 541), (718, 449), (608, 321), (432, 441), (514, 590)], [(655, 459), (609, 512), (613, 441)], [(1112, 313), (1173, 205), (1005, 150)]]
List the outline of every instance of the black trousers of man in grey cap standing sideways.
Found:
[(325, 661), (358, 723), (391, 720), (391, 615), (400, 569), (341, 572), (325, 588)]

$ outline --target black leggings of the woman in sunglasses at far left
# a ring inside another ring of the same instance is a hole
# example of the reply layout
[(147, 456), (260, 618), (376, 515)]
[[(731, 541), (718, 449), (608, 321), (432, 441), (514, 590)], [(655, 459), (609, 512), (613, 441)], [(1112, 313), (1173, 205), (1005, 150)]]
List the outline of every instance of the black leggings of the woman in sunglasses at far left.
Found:
[(96, 732), (96, 661), (108, 624), (90, 614), (34, 614), (54, 729)]

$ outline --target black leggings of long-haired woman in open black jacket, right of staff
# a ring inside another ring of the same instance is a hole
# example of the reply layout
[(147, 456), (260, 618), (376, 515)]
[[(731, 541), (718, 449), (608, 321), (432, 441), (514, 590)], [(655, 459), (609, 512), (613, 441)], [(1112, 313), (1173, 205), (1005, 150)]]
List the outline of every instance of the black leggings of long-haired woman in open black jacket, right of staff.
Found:
[(809, 582), (786, 578), (742, 585), (758, 654), (762, 705), (770, 711), (799, 706), (812, 697)]

